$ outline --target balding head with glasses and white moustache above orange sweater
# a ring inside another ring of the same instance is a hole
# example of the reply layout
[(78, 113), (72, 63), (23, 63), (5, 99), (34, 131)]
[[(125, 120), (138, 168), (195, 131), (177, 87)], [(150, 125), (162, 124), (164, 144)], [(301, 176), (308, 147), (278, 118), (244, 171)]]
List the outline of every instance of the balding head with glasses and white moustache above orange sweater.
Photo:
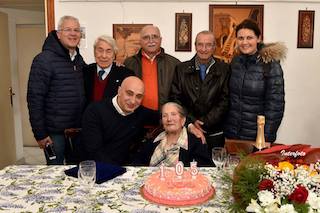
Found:
[(149, 57), (159, 53), (161, 40), (160, 30), (156, 26), (147, 25), (140, 31), (141, 48)]

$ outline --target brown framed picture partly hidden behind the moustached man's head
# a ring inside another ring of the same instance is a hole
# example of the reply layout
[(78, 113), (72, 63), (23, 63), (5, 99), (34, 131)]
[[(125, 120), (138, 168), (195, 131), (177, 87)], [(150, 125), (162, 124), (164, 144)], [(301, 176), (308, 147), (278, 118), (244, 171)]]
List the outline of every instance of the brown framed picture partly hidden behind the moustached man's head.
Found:
[(118, 52), (116, 61), (123, 63), (127, 57), (140, 49), (140, 30), (151, 24), (113, 24), (113, 38), (116, 40)]

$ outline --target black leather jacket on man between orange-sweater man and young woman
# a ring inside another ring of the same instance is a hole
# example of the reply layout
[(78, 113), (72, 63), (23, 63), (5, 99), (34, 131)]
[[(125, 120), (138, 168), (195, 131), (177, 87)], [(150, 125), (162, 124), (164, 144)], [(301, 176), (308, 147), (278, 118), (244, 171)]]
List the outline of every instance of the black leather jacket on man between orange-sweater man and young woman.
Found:
[(214, 59), (204, 81), (200, 79), (195, 57), (179, 64), (170, 91), (170, 101), (182, 105), (187, 111), (188, 123), (204, 122), (208, 134), (221, 132), (228, 110), (229, 65)]

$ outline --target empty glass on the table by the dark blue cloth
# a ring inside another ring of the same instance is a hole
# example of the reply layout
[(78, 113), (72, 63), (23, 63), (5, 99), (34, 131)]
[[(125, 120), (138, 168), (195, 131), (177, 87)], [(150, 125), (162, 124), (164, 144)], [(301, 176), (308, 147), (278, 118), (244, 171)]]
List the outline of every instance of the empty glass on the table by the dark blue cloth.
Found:
[(82, 161), (79, 164), (78, 178), (87, 190), (96, 182), (96, 162), (93, 160)]

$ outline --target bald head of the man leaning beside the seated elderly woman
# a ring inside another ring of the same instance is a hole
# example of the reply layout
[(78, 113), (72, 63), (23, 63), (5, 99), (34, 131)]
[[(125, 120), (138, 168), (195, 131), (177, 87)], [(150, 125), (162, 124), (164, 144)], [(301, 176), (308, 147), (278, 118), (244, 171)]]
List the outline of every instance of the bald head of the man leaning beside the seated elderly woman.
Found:
[(144, 84), (141, 79), (135, 76), (125, 78), (118, 89), (118, 105), (126, 114), (136, 110), (144, 96)]

